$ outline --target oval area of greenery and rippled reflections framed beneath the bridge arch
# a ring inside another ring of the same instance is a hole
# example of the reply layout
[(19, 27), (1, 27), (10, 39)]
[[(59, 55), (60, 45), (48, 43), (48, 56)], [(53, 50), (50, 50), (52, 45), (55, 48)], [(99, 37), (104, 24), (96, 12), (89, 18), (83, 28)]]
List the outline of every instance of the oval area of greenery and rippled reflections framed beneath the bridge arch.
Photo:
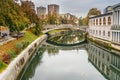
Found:
[(58, 35), (52, 35), (48, 38), (47, 42), (57, 45), (74, 45), (85, 41), (85, 33), (80, 30), (67, 29), (61, 31)]

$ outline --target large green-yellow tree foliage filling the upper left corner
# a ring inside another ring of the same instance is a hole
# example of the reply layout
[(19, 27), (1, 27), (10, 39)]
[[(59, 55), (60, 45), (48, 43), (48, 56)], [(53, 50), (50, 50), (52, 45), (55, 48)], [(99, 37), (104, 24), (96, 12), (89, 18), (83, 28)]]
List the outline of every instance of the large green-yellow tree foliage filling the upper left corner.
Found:
[(8, 26), (11, 32), (23, 30), (29, 19), (25, 16), (22, 8), (13, 0), (0, 1), (0, 25)]

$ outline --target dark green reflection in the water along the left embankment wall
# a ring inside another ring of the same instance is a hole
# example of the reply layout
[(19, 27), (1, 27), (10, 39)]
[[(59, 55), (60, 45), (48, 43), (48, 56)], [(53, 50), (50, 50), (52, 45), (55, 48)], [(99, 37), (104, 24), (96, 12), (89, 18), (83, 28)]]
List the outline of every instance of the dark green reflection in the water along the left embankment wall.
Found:
[(25, 73), (23, 70), (21, 78), (20, 79), (18, 78), (18, 80), (29, 80), (30, 78), (34, 77), (36, 67), (42, 63), (41, 59), (43, 57), (43, 53), (45, 52), (45, 50), (46, 50), (46, 48), (44, 46), (40, 47), (36, 50), (35, 55), (31, 59), (32, 61), (30, 61), (26, 65), (26, 68), (24, 69)]

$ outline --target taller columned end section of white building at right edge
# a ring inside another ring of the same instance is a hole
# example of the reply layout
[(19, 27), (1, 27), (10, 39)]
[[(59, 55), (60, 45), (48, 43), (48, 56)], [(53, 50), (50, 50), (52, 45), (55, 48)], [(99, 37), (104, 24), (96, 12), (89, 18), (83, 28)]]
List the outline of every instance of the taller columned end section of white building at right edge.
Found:
[(120, 3), (113, 6), (112, 42), (120, 44)]

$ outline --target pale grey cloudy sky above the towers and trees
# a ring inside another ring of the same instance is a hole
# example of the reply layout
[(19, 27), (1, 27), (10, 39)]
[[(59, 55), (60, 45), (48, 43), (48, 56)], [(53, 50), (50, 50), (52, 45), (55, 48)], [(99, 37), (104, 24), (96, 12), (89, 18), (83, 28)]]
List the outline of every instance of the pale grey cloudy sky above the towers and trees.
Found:
[(91, 8), (103, 9), (109, 5), (120, 3), (120, 0), (32, 0), (35, 6), (44, 6), (49, 4), (58, 4), (60, 13), (71, 13), (77, 17), (85, 17)]

